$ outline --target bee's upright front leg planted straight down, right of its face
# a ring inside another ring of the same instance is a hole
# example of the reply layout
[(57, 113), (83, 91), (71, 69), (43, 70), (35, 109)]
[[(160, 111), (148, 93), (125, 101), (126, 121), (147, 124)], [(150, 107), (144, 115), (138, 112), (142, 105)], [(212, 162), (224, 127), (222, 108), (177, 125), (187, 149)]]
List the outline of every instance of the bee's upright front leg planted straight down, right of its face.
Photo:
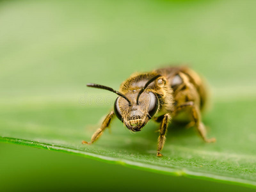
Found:
[(166, 140), (165, 138), (165, 134), (167, 132), (167, 127), (168, 127), (168, 124), (171, 120), (171, 116), (166, 113), (165, 115), (157, 118), (157, 120), (163, 118), (163, 120), (161, 121), (161, 125), (160, 125), (160, 128), (159, 128), (159, 137), (158, 137), (158, 144), (157, 144), (157, 157), (161, 157), (163, 156), (160, 151), (163, 149), (164, 147), (164, 142)]

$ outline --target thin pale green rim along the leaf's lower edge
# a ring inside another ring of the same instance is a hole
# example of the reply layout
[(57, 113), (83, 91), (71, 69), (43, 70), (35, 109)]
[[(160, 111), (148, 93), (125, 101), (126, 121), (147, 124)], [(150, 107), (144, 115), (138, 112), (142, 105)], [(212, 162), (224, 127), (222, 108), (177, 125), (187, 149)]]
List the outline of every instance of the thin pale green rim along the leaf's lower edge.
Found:
[(9, 138), (9, 137), (0, 136), (0, 142), (24, 145), (24, 146), (35, 147), (35, 148), (43, 148), (43, 149), (52, 150), (52, 151), (56, 151), (56, 152), (65, 152), (67, 154), (83, 156), (83, 157), (87, 157), (87, 158), (101, 161), (104, 163), (120, 164), (122, 166), (126, 166), (129, 168), (135, 168), (137, 170), (143, 170), (143, 171), (147, 171), (147, 172), (161, 173), (164, 175), (172, 175), (172, 176), (176, 176), (176, 177), (183, 176), (183, 177), (187, 177), (187, 178), (191, 178), (191, 179), (209, 180), (209, 181), (213, 181), (213, 182), (220, 182), (223, 184), (233, 184), (233, 185), (237, 185), (237, 186), (244, 186), (247, 188), (256, 189), (256, 182), (253, 180), (237, 179), (235, 177), (225, 177), (222, 175), (216, 175), (216, 174), (211, 174), (211, 173), (207, 174), (207, 173), (193, 172), (193, 171), (189, 171), (186, 169), (179, 170), (176, 168), (166, 168), (163, 166), (139, 163), (139, 162), (131, 161), (131, 160), (127, 160), (127, 159), (118, 159), (116, 157), (102, 156), (99, 154), (93, 154), (91, 152), (86, 152), (84, 150), (79, 150), (77, 148), (63, 147), (60, 145), (42, 143), (42, 142), (33, 141), (33, 140), (23, 140), (23, 139), (19, 139), (19, 138)]

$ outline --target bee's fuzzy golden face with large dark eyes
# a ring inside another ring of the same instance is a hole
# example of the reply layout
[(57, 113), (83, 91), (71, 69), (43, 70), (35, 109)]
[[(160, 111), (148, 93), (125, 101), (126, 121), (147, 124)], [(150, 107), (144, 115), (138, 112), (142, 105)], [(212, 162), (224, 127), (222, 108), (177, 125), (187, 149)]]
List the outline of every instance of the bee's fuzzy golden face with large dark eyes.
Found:
[(132, 90), (125, 95), (131, 101), (130, 105), (123, 97), (118, 97), (114, 106), (116, 116), (134, 132), (141, 131), (159, 107), (159, 100), (153, 92), (141, 93), (137, 103), (139, 93), (140, 90)]

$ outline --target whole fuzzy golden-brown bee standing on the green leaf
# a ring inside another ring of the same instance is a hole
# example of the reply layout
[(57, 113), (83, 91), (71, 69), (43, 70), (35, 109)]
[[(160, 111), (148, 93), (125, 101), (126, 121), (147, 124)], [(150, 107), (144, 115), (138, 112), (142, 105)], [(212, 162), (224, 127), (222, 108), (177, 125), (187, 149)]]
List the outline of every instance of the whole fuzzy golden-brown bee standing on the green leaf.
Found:
[[(158, 157), (163, 156), (160, 152), (171, 120), (186, 120), (186, 127), (195, 127), (206, 143), (216, 141), (215, 138), (206, 137), (201, 111), (207, 100), (207, 92), (204, 82), (191, 68), (166, 67), (135, 73), (121, 84), (119, 92), (100, 84), (89, 83), (87, 86), (114, 92), (118, 97), (114, 109), (95, 131), (91, 141), (82, 141), (83, 144), (92, 144), (98, 140), (115, 116), (132, 132), (141, 131), (151, 119), (158, 122)], [(184, 114), (186, 119), (182, 117)]]

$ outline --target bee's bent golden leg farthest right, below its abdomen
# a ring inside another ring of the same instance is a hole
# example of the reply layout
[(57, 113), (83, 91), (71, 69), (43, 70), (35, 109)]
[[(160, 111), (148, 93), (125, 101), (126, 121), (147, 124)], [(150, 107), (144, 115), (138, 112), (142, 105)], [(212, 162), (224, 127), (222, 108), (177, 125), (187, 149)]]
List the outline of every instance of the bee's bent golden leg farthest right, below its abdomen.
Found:
[(177, 106), (174, 113), (177, 113), (178, 111), (180, 111), (181, 109), (184, 109), (184, 108), (191, 108), (191, 115), (192, 115), (192, 118), (193, 118), (193, 123), (190, 123), (190, 124), (195, 125), (196, 130), (200, 134), (201, 138), (206, 143), (215, 142), (216, 141), (215, 138), (210, 138), (210, 139), (206, 138), (207, 131), (205, 129), (205, 125), (203, 124), (203, 122), (201, 120), (200, 110), (199, 110), (199, 108), (197, 108), (195, 106), (194, 102), (193, 101), (184, 102), (184, 104), (181, 104), (181, 105)]

